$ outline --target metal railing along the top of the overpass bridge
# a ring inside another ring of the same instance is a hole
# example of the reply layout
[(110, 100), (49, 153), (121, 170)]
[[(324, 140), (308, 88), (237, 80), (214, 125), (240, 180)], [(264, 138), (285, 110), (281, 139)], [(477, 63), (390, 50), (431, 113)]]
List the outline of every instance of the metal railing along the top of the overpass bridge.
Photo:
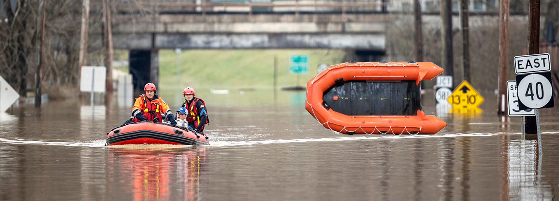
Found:
[[(391, 0), (120, 0), (117, 13), (382, 13)], [(92, 3), (92, 7), (96, 4)]]

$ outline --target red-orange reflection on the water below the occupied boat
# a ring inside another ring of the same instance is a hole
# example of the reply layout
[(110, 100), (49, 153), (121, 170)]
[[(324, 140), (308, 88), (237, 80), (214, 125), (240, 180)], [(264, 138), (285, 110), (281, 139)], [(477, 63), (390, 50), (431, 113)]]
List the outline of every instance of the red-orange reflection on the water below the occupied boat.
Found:
[(111, 194), (125, 189), (132, 200), (198, 200), (206, 147), (110, 148), (107, 162), (107, 176), (117, 179)]

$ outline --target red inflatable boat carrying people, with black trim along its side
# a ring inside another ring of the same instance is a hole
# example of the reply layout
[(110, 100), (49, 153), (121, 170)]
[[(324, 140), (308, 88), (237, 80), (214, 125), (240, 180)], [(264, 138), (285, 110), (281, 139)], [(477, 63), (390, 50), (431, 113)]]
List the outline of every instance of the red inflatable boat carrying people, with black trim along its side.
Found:
[(115, 127), (107, 133), (106, 145), (119, 144), (209, 144), (208, 137), (190, 129), (164, 123), (135, 122)]

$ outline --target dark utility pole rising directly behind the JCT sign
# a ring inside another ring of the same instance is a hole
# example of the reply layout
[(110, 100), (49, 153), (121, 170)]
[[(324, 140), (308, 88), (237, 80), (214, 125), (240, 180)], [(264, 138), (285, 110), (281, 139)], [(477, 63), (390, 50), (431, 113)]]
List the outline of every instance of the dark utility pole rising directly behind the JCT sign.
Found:
[[(453, 77), (453, 82), (457, 83), (458, 79), (454, 77), (454, 66), (452, 60), (452, 3), (451, 0), (440, 1), (440, 17), (442, 20), (441, 36), (443, 41), (443, 68), (446, 69), (447, 75)], [(453, 83), (453, 86), (456, 86)]]

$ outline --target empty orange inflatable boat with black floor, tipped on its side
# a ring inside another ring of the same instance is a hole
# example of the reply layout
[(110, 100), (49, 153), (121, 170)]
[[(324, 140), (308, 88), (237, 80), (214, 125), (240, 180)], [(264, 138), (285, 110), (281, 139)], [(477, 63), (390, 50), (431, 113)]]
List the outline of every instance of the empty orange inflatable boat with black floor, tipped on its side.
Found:
[(443, 69), (432, 62), (348, 62), (307, 82), (305, 109), (344, 134), (434, 134), (447, 123), (421, 111), (420, 81)]

